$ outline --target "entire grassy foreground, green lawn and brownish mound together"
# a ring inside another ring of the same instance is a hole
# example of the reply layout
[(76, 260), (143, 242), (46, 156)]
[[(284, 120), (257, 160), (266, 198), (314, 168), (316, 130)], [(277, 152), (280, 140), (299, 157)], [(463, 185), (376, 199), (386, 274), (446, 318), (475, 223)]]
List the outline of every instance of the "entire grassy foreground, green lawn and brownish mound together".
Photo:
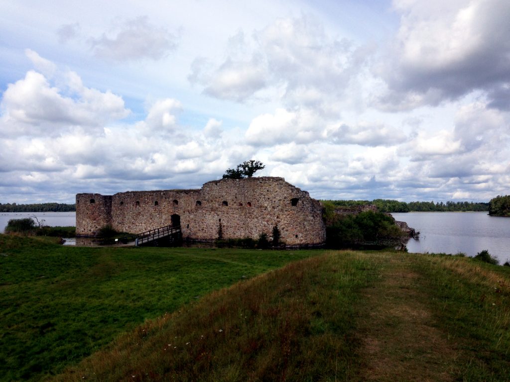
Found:
[(2, 380), (510, 380), (509, 267), (8, 236), (0, 254)]

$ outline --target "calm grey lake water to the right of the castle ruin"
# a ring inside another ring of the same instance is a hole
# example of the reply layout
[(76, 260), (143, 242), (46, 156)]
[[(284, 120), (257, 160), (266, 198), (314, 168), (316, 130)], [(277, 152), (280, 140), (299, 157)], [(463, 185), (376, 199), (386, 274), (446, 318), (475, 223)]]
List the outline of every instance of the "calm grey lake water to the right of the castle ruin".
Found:
[(489, 216), (487, 212), (407, 212), (392, 213), (420, 231), (420, 239), (410, 239), (411, 253), (463, 252), (475, 256), (488, 250), (500, 263), (510, 261), (510, 218)]

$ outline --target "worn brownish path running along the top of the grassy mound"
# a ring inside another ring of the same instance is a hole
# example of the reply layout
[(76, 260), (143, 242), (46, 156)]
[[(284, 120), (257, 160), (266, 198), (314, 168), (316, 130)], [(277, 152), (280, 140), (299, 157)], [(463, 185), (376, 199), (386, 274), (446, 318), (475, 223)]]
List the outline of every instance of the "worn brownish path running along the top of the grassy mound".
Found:
[(423, 277), (409, 260), (388, 257), (380, 282), (364, 291), (359, 325), (362, 335), (361, 380), (449, 381), (457, 352), (436, 328), (420, 288)]

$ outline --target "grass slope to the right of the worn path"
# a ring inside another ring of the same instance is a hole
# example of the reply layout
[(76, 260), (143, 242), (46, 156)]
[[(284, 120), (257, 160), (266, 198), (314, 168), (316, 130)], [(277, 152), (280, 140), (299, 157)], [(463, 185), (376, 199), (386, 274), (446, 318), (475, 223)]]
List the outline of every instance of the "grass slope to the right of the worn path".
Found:
[(424, 256), (415, 263), (427, 278), (430, 306), (460, 356), (464, 380), (510, 380), (510, 269), (471, 258)]

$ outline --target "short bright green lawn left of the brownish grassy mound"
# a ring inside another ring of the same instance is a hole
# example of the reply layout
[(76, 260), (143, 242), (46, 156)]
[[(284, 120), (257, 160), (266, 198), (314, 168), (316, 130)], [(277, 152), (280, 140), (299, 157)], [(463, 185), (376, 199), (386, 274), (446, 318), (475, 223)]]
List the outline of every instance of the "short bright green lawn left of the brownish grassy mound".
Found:
[(147, 319), (319, 253), (66, 247), (0, 235), (0, 380), (40, 380)]

